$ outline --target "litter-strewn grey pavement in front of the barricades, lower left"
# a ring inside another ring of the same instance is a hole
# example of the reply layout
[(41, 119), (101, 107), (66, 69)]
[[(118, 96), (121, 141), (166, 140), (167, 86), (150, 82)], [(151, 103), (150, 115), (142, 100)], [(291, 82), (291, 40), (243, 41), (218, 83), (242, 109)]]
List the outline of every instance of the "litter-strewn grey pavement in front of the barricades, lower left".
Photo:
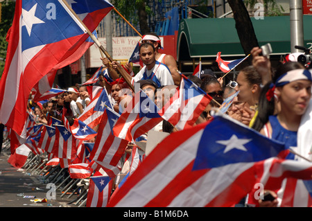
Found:
[[(78, 207), (68, 204), (76, 199), (77, 194), (61, 197), (59, 188), (55, 191), (56, 200), (51, 198), (51, 188), (40, 182), (40, 175), (32, 175), (24, 169), (17, 169), (8, 163), (10, 152), (0, 154), (0, 207)], [(35, 197), (35, 198), (32, 198)], [(46, 199), (46, 202), (32, 202), (32, 200)]]

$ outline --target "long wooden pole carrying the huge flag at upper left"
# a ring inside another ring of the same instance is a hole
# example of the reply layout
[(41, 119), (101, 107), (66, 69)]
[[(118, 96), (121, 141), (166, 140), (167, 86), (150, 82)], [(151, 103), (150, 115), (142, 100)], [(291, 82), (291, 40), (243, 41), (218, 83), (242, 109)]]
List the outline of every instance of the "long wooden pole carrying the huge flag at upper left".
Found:
[[(112, 57), (107, 53), (107, 51), (105, 50), (105, 48), (102, 46), (101, 42), (98, 41), (98, 39), (95, 37), (94, 34), (91, 33), (91, 31), (89, 30), (89, 28), (87, 28), (87, 26), (83, 23), (83, 21), (81, 21), (81, 19), (78, 17), (78, 15), (76, 14), (76, 12), (73, 11), (73, 9), (71, 8), (71, 6), (69, 6), (69, 4), (67, 3), (66, 0), (62, 0), (62, 2), (67, 6), (67, 8), (71, 11), (71, 13), (73, 14), (73, 16), (76, 17), (76, 19), (78, 19), (78, 21), (80, 22), (80, 24), (83, 25), (83, 27), (85, 28), (85, 30), (87, 30), (88, 35), (92, 38), (92, 40), (94, 41), (94, 43), (96, 44), (96, 46), (98, 46), (98, 48), (101, 49), (101, 51), (103, 51), (103, 53), (105, 54), (106, 58), (108, 58), (108, 60), (110, 60), (110, 62), (113, 62), (114, 60), (112, 60)], [(117, 66), (117, 71), (119, 71), (119, 73), (121, 74), (121, 76), (125, 79), (125, 82), (127, 82), (127, 84), (129, 85), (130, 89), (132, 89), (132, 91), (135, 91), (135, 87), (133, 87), (133, 85), (131, 84), (131, 77), (130, 75), (125, 71), (122, 70), (120, 67)]]

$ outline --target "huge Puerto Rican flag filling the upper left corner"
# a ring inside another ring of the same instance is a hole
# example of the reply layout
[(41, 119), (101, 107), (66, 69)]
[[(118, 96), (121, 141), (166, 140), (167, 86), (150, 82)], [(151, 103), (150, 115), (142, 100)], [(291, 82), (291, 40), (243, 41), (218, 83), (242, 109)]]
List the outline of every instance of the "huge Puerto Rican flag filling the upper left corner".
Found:
[[(113, 6), (104, 0), (77, 0), (71, 3), (71, 7), (76, 13), (84, 14), (83, 21), (89, 30), (94, 31)], [(92, 11), (87, 13), (86, 9)], [(64, 2), (17, 0), (7, 38), (6, 65), (0, 80), (0, 121), (26, 138), (22, 132), (31, 90), (53, 69), (78, 60), (85, 53), (81, 45), (88, 37), (83, 25)], [(84, 44), (85, 50), (92, 44)]]

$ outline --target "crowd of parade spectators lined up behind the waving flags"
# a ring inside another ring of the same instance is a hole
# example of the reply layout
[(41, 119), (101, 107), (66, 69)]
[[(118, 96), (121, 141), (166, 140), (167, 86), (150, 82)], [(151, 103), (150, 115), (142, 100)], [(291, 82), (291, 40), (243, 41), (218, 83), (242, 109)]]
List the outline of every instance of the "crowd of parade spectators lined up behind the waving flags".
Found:
[[(171, 55), (159, 53), (161, 47), (157, 35), (144, 35), (139, 47), (144, 67), (134, 75), (129, 74), (133, 72), (130, 64), (122, 67), (119, 62), (102, 58), (106, 73), (100, 75), (96, 85), (105, 87), (115, 112), (122, 113), (133, 96), (127, 82), (132, 85), (138, 83), (159, 109), (180, 87), (181, 76), (177, 64)], [(262, 56), (261, 48), (258, 47), (252, 49), (251, 55), (252, 64), (241, 69), (235, 80), (224, 82), (210, 69), (203, 70), (200, 78), (188, 76), (189, 80), (213, 98), (195, 125), (211, 120), (223, 100), (239, 91), (226, 114), (264, 136), (286, 143), (288, 148), (295, 147), (297, 130), (311, 99), (311, 73), (299, 62), (286, 62), (271, 67), (270, 59)], [(117, 70), (124, 72), (123, 77), (119, 76)], [(30, 99), (28, 109), (36, 123), (45, 124), (51, 116), (62, 120), (64, 114), (72, 122), (89, 103), (87, 87), (75, 85), (43, 105)], [(153, 130), (173, 133), (176, 128), (164, 120)], [(275, 200), (259, 200), (259, 206), (277, 206), (277, 194), (275, 191), (271, 193)]]

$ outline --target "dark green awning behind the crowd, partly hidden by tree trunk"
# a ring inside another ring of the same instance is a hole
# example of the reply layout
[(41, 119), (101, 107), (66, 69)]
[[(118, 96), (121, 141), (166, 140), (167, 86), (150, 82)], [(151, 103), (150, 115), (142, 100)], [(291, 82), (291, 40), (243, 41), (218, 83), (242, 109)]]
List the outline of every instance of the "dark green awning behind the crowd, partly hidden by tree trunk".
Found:
[[(251, 18), (259, 46), (270, 43), (273, 55), (291, 53), (290, 17)], [(304, 46), (312, 44), (312, 16), (304, 15)], [(244, 56), (233, 18), (182, 19), (177, 33), (177, 61), (189, 58)], [(302, 51), (303, 52), (303, 51)]]

